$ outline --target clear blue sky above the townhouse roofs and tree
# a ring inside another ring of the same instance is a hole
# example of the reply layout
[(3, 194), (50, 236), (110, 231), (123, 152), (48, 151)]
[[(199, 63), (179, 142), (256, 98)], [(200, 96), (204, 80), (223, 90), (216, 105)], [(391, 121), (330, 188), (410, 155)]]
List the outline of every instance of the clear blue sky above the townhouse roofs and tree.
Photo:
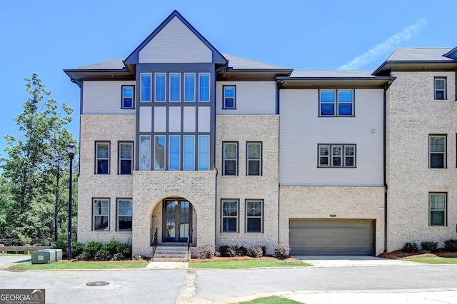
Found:
[(79, 138), (79, 88), (62, 70), (125, 58), (175, 9), (221, 53), (296, 70), (373, 71), (398, 47), (457, 46), (456, 1), (4, 1), (1, 156), (19, 136), (24, 78), (36, 72), (74, 108)]

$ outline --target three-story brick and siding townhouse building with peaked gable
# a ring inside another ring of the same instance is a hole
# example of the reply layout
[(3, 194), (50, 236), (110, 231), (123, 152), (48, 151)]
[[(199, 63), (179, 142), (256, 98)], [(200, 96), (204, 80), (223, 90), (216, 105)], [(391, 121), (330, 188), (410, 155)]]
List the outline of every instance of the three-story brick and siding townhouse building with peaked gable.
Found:
[(455, 236), (457, 51), (441, 51), (295, 71), (221, 54), (174, 11), (125, 59), (65, 70), (78, 240), (378, 255)]

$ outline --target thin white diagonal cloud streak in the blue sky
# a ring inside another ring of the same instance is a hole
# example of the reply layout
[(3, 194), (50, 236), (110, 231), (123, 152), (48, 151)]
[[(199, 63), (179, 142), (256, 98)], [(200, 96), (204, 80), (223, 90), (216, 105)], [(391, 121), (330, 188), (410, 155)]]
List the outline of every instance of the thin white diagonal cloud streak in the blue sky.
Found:
[(407, 26), (403, 31), (389, 37), (382, 44), (378, 44), (366, 51), (364, 54), (357, 56), (355, 59), (351, 60), (348, 64), (343, 64), (338, 67), (338, 70), (358, 70), (363, 66), (366, 66), (371, 61), (378, 59), (381, 55), (393, 51), (393, 49), (400, 46), (403, 41), (411, 39), (415, 34), (418, 34), (424, 26), (426, 26), (427, 20), (421, 19), (415, 24)]

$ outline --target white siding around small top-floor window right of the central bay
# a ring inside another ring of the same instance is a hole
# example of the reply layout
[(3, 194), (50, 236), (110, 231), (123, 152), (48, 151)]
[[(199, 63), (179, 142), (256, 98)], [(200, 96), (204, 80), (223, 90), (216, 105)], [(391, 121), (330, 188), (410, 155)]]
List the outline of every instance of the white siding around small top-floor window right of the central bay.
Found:
[[(222, 109), (222, 86), (236, 86), (236, 110)], [(276, 113), (274, 81), (219, 81), (216, 83), (216, 114), (246, 115)]]

